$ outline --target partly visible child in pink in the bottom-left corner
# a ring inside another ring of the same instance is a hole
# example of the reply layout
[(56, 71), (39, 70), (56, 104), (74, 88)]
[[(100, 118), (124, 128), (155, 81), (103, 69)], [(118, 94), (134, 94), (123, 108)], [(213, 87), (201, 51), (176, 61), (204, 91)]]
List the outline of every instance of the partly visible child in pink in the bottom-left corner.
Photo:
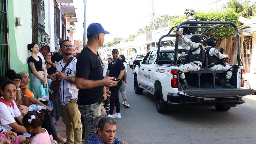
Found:
[[(1, 121), (1, 117), (0, 117)], [(26, 138), (23, 136), (17, 136), (17, 133), (11, 130), (5, 130), (0, 123), (0, 138), (7, 140), (10, 144), (22, 144)]]

